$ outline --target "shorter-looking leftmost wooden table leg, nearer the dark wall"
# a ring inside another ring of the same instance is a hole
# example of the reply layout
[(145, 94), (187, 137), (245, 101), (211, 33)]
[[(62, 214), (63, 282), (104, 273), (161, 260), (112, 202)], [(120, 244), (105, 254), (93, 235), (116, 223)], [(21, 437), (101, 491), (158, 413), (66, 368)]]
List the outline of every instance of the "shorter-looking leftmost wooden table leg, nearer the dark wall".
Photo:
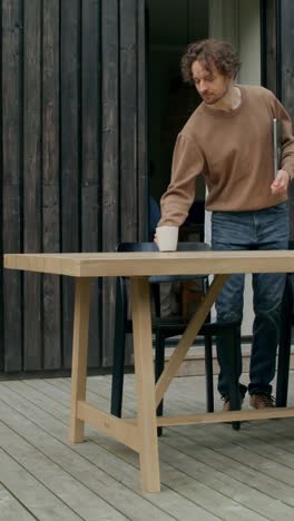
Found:
[(86, 399), (88, 330), (90, 307), (90, 278), (76, 279), (72, 368), (71, 368), (71, 421), (69, 439), (72, 443), (84, 441), (85, 422), (78, 419), (79, 401)]

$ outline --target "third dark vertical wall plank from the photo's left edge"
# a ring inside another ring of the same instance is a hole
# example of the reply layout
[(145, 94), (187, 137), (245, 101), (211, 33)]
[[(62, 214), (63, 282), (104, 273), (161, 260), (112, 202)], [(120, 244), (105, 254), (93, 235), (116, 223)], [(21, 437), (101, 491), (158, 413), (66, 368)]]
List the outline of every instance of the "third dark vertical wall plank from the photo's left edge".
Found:
[[(60, 250), (59, 0), (42, 3), (42, 249)], [(43, 276), (43, 368), (61, 366), (60, 277)]]

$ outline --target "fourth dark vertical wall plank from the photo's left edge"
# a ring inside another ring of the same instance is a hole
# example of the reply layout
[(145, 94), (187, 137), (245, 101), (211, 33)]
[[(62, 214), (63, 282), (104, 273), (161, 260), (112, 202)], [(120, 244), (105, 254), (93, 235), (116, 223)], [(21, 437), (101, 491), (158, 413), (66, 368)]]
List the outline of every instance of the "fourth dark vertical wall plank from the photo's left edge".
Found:
[[(80, 250), (79, 67), (80, 2), (62, 0), (61, 11), (61, 244)], [(62, 279), (63, 365), (71, 364), (74, 284)]]

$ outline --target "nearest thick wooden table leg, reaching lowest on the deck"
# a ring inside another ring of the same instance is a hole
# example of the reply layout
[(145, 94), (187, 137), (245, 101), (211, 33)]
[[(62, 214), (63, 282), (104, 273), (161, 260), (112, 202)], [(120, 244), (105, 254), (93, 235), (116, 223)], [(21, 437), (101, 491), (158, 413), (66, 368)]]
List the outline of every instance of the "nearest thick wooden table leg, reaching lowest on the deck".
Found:
[(145, 492), (159, 492), (150, 291), (147, 278), (131, 278), (130, 295), (141, 484)]

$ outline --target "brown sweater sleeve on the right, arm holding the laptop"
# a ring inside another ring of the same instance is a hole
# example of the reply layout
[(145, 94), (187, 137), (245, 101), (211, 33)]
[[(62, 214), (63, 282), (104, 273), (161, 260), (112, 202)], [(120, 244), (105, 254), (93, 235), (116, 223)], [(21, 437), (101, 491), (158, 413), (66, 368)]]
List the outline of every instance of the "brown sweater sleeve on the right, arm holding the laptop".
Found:
[(293, 137), (293, 128), (292, 128), (292, 120), (283, 107), (283, 105), (275, 98), (275, 111), (276, 117), (282, 121), (282, 140), (283, 140), (283, 148), (282, 148), (282, 168), (283, 170), (287, 171), (291, 178), (294, 177), (294, 137)]

